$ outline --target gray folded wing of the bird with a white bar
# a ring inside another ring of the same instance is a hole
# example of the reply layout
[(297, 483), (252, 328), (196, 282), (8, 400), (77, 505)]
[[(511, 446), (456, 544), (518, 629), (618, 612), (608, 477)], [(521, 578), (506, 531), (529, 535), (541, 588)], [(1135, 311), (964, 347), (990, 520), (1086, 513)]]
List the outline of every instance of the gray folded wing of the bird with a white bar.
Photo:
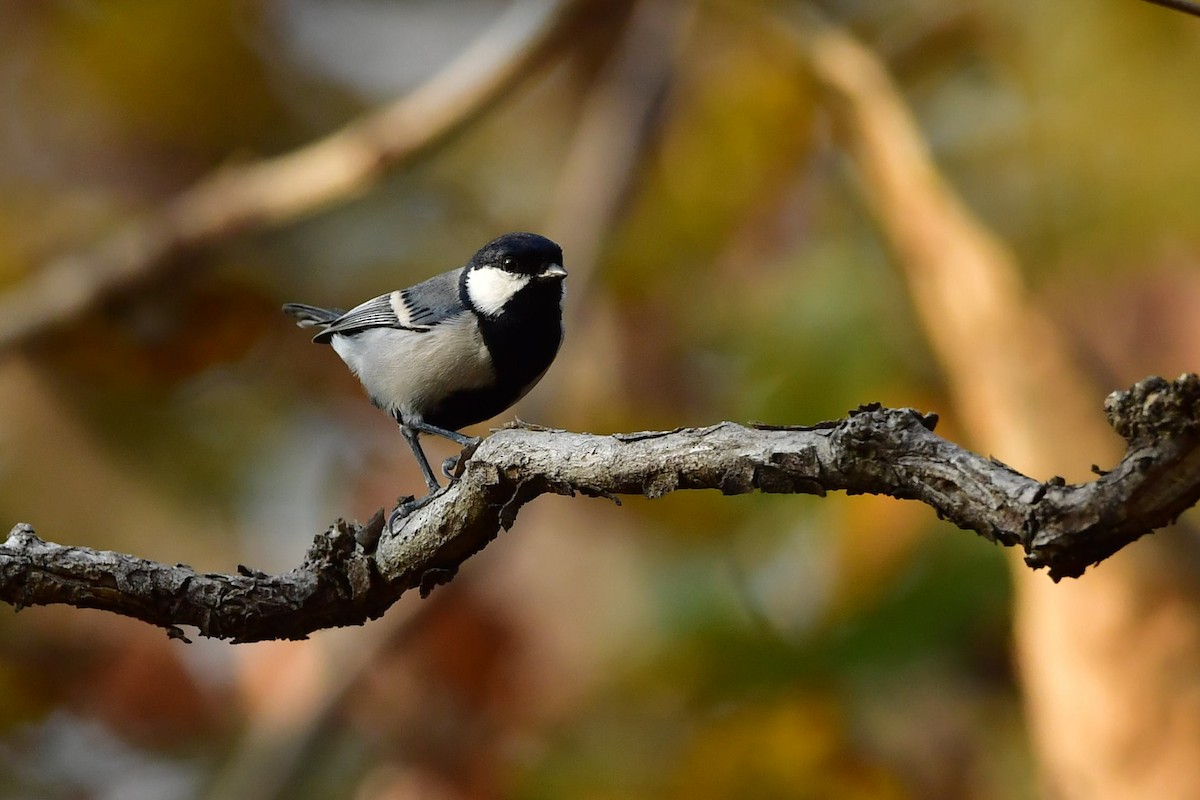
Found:
[(353, 336), (372, 327), (427, 331), (463, 312), (458, 300), (460, 272), (444, 272), (408, 289), (372, 297), (329, 323), (313, 341), (328, 342), (334, 333)]

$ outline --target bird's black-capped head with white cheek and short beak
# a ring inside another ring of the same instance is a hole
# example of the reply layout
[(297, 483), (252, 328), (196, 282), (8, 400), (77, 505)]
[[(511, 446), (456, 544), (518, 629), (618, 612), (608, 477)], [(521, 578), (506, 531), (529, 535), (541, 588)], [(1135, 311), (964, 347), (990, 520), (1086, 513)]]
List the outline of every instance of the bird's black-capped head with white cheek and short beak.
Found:
[[(538, 234), (504, 234), (486, 245), (467, 264), (467, 297), (475, 311), (494, 317), (527, 289), (562, 297), (563, 248)], [(556, 303), (557, 305), (557, 303)]]

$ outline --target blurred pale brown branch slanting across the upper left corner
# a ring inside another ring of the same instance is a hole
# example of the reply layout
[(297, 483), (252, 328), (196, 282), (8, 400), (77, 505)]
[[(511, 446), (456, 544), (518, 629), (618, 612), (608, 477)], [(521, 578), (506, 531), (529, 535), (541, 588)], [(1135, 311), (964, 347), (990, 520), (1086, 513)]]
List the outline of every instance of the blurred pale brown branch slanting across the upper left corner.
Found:
[(427, 83), (299, 150), (226, 167), (91, 249), (46, 264), (0, 295), (0, 350), (61, 325), (182, 255), (293, 222), (376, 184), (462, 131), (539, 74), (598, 0), (526, 0)]

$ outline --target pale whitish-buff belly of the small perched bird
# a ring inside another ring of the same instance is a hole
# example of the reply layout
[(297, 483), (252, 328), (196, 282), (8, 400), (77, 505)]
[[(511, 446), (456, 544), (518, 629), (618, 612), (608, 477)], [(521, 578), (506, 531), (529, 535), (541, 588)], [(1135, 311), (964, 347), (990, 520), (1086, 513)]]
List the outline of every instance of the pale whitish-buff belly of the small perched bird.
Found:
[(422, 420), (446, 396), (494, 380), (487, 347), (472, 314), (428, 331), (374, 327), (330, 341), (376, 405)]

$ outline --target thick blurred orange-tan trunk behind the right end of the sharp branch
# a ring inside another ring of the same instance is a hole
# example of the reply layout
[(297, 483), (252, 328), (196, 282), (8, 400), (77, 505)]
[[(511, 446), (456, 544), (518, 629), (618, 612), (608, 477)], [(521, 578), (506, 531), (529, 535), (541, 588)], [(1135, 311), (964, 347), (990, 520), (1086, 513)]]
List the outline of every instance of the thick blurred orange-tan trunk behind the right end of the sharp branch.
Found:
[[(1115, 440), (1087, 411), (1096, 389), (1079, 353), (1032, 296), (1012, 249), (938, 169), (887, 66), (811, 17), (775, 35), (809, 55), (974, 446), (1027, 473), (1075, 480), (1084, 464), (1114, 461)], [(1187, 529), (1156, 537), (1068, 587), (1014, 561), (1015, 656), (1046, 793), (1196, 794), (1195, 542)]]

